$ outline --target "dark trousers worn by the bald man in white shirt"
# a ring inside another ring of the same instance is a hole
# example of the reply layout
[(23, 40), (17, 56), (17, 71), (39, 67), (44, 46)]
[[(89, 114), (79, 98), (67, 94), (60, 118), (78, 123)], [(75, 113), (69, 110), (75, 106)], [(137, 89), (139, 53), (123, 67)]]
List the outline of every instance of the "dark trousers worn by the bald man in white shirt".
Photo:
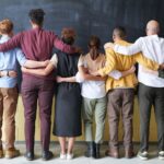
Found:
[(140, 108), (140, 151), (149, 149), (149, 129), (151, 108), (154, 108), (157, 124), (159, 151), (164, 151), (164, 87), (151, 87), (139, 84), (139, 108)]

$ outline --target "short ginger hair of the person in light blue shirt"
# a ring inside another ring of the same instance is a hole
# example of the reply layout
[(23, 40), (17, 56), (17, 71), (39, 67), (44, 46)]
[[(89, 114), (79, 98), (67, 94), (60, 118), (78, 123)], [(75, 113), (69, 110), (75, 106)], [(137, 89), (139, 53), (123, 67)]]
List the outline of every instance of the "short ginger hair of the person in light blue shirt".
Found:
[(0, 22), (0, 33), (10, 34), (13, 30), (13, 23), (11, 20), (5, 19)]

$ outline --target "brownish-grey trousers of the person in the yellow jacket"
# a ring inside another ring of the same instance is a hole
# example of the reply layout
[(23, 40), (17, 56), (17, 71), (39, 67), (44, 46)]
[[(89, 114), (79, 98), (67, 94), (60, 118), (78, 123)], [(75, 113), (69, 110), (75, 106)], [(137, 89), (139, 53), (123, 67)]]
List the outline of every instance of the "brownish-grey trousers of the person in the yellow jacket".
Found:
[(132, 116), (133, 116), (133, 89), (115, 89), (108, 92), (108, 122), (109, 148), (118, 149), (118, 126), (120, 115), (124, 124), (125, 149), (132, 149)]

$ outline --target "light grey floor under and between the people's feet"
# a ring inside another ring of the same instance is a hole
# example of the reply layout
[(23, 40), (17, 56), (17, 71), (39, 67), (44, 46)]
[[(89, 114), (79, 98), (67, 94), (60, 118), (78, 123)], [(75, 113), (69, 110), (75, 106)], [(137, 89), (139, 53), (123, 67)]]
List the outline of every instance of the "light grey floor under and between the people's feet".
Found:
[[(107, 149), (107, 144), (103, 145), (101, 149), (102, 159), (94, 160), (94, 159), (87, 159), (83, 156), (83, 153), (85, 151), (85, 144), (83, 143), (77, 143), (74, 148), (74, 159), (71, 161), (63, 161), (59, 160), (59, 144), (51, 144), (50, 150), (54, 152), (55, 156), (52, 160), (44, 162), (40, 159), (40, 145), (37, 143), (35, 145), (35, 154), (36, 159), (32, 162), (26, 161), (26, 159), (23, 156), (25, 153), (25, 145), (24, 144), (16, 144), (16, 148), (21, 151), (21, 156), (15, 157), (12, 160), (7, 159), (0, 159), (0, 164), (164, 164), (164, 161), (161, 161), (157, 159), (156, 155), (156, 145), (151, 144), (150, 147), (150, 159), (148, 161), (141, 161), (138, 157), (133, 157), (131, 160), (127, 160), (124, 157), (124, 149), (120, 148), (120, 154), (122, 157), (116, 160), (108, 156), (105, 156), (105, 150)], [(136, 152), (139, 148), (138, 144), (134, 145)]]

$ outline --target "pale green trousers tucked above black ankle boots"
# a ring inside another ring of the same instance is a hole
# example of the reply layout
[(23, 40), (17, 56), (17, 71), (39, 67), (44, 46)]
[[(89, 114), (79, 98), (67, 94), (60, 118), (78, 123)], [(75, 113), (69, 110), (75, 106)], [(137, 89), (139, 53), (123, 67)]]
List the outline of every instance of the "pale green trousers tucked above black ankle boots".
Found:
[[(106, 116), (106, 96), (103, 98), (85, 98), (82, 101), (85, 140), (95, 143), (103, 142), (103, 133)], [(95, 117), (95, 140), (93, 139), (93, 122)]]

